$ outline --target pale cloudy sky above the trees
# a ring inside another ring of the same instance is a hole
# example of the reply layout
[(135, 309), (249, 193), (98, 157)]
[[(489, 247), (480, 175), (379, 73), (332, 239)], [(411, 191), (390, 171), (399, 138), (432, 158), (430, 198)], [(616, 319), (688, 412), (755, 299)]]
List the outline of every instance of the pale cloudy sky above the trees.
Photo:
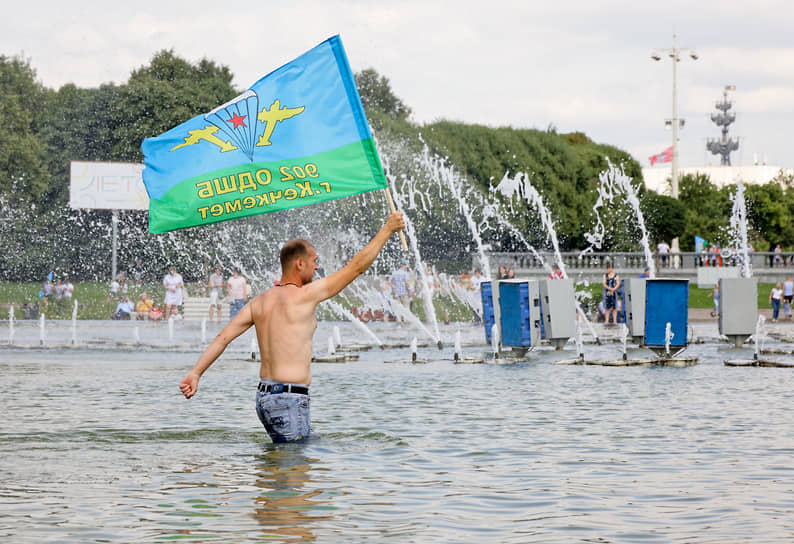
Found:
[(675, 44), (698, 55), (677, 63), (680, 165), (719, 164), (705, 150), (719, 136), (709, 114), (735, 85), (733, 164), (794, 167), (790, 0), (40, 0), (3, 11), (0, 54), (29, 59), (51, 88), (123, 83), (173, 49), (228, 66), (243, 90), (340, 34), (353, 70), (386, 76), (417, 123), (581, 131), (644, 167), (672, 143)]

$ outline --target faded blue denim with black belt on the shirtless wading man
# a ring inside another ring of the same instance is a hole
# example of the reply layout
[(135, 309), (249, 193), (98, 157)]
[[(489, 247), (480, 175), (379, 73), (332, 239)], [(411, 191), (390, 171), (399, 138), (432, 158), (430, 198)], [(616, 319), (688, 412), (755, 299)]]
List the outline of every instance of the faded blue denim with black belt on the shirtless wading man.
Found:
[[(260, 384), (275, 384), (262, 379)], [(293, 384), (303, 385), (303, 384)], [(256, 392), (256, 415), (273, 442), (293, 442), (311, 433), (309, 395)]]

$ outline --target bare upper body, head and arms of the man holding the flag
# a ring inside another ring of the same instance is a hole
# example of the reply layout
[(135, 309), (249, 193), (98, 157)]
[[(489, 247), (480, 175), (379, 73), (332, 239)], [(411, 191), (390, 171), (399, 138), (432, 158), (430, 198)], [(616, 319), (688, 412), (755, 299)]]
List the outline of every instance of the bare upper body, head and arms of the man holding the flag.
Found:
[(405, 227), (402, 213), (389, 215), (386, 224), (364, 249), (342, 269), (312, 281), (317, 271), (317, 252), (303, 240), (295, 257), (285, 263), (282, 250), (282, 275), (279, 284), (258, 295), (232, 319), (199, 357), (196, 365), (179, 384), (186, 398), (196, 394), (202, 374), (223, 353), (229, 343), (256, 327), (262, 365), (259, 376), (282, 383), (311, 383), (312, 336), (317, 328), (317, 305), (342, 291), (362, 274), (383, 248), (389, 237)]

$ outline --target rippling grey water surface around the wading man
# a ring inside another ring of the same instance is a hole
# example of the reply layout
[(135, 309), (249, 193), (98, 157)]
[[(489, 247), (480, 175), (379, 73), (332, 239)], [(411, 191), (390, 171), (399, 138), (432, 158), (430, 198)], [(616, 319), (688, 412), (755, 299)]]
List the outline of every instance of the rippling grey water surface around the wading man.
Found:
[[(391, 325), (376, 332), (405, 336)], [(794, 540), (794, 371), (725, 367), (717, 344), (688, 368), (363, 352), (313, 365), (315, 435), (289, 445), (257, 420), (246, 338), (190, 401), (198, 348), (158, 346), (0, 349), (3, 540)]]

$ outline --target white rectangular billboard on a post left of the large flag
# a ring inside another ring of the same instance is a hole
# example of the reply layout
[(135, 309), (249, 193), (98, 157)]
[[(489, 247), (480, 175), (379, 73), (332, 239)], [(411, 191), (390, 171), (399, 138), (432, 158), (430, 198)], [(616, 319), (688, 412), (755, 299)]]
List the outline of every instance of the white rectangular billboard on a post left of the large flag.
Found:
[(148, 210), (143, 164), (80, 162), (70, 165), (69, 206), (77, 209)]

